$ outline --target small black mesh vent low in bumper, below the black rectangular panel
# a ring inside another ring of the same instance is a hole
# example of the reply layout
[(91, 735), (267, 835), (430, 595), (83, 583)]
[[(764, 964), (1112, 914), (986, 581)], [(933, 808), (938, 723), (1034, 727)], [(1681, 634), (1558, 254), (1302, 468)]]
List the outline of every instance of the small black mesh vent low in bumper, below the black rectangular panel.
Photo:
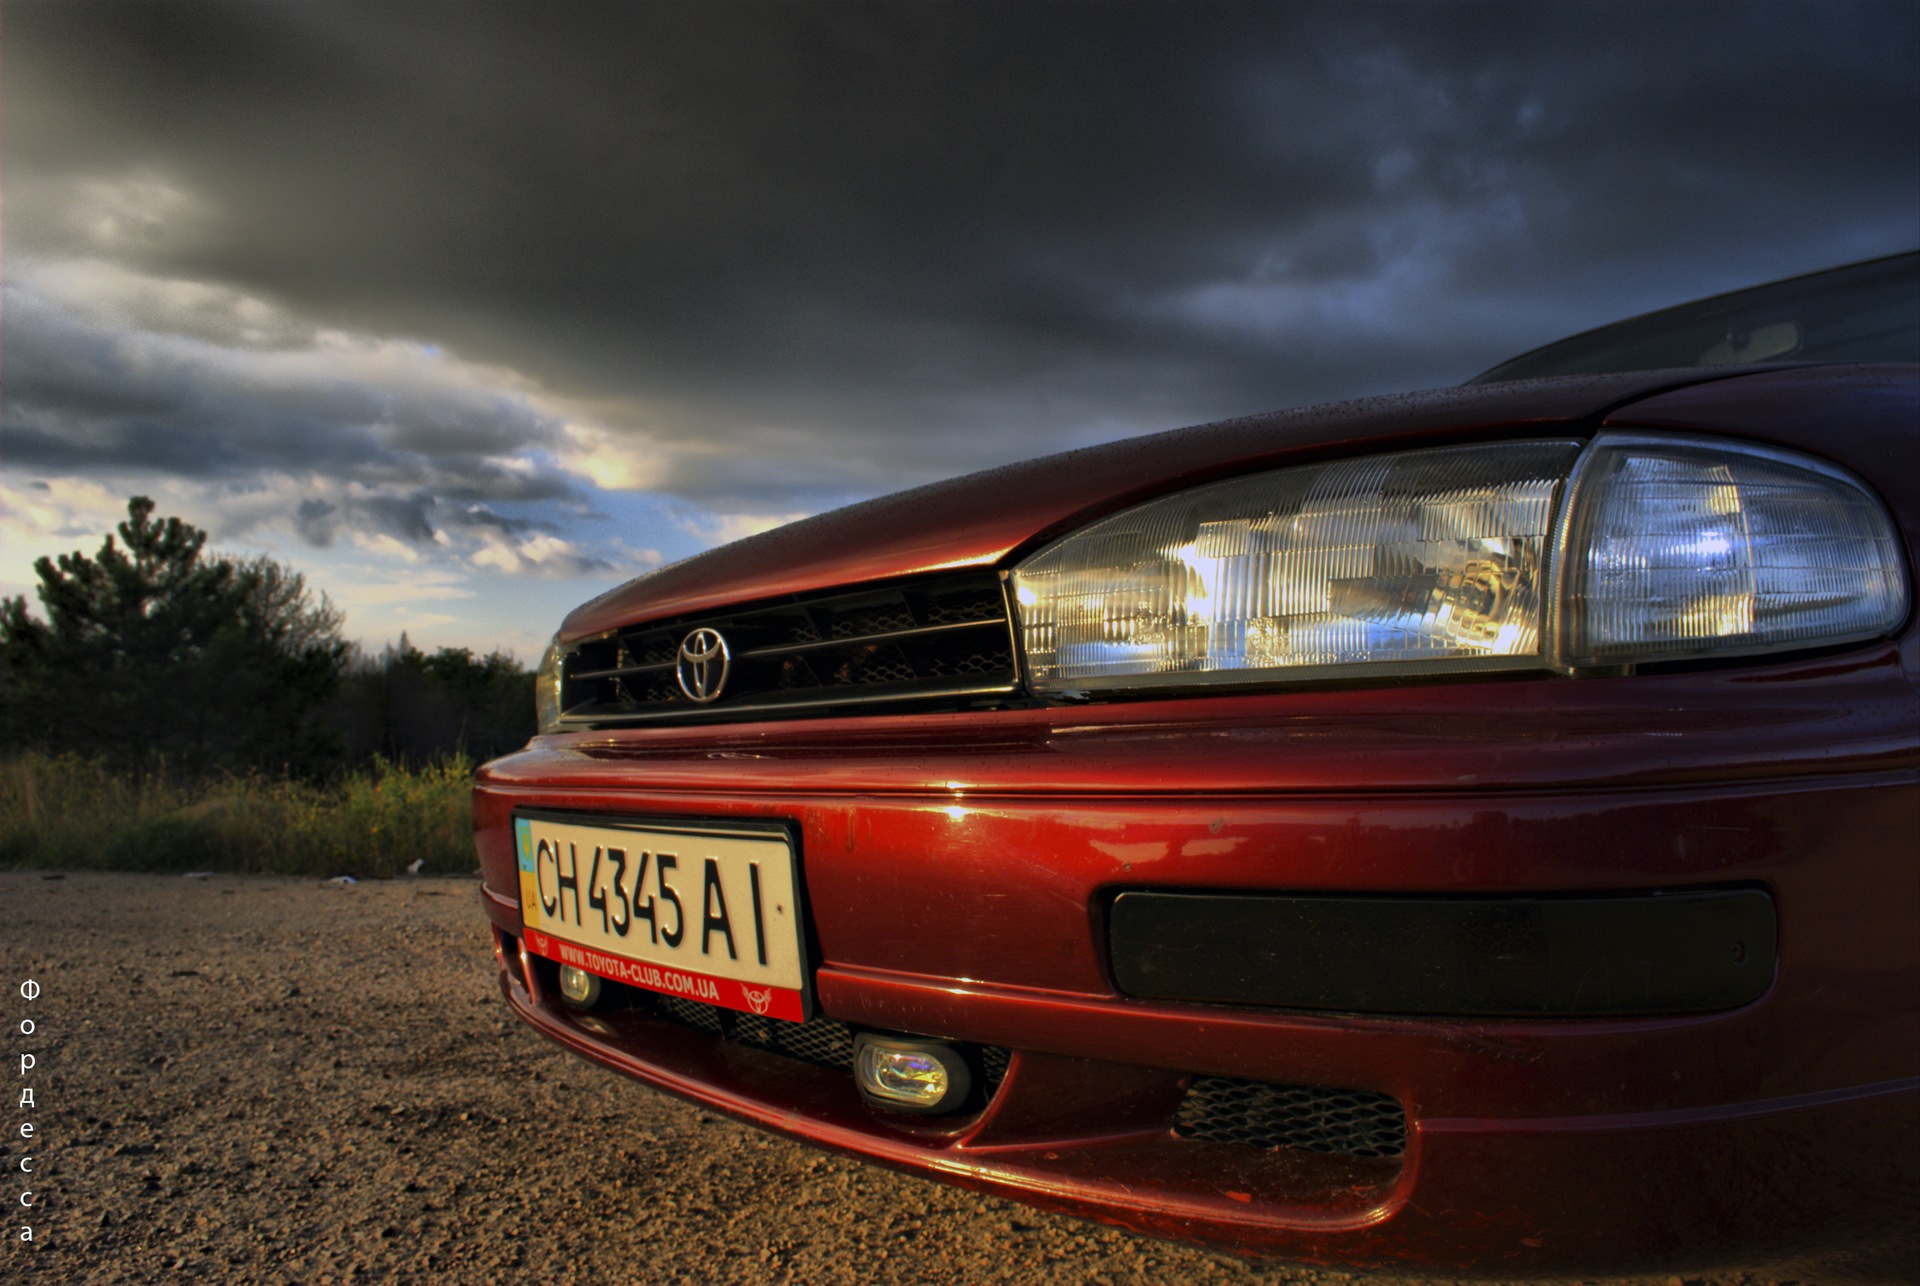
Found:
[(1407, 1115), (1390, 1094), (1194, 1077), (1173, 1132), (1250, 1148), (1306, 1148), (1352, 1157), (1398, 1157)]

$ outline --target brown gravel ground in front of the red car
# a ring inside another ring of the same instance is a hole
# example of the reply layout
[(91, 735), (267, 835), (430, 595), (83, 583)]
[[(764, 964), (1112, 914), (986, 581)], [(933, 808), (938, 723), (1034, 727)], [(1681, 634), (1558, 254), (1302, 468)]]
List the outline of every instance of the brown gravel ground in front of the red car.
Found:
[[(1043, 1215), (643, 1090), (509, 1021), (484, 927), (474, 881), (0, 873), (6, 1084), (38, 1058), (36, 1107), (8, 1098), (0, 1278), (1352, 1280)], [(31, 1244), (19, 1121), (38, 1127)]]

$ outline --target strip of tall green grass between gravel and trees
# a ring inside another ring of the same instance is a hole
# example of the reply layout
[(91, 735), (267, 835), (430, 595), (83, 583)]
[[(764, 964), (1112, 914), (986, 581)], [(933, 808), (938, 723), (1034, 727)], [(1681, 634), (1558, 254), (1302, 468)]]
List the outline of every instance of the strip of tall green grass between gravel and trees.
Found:
[(399, 875), (474, 869), (472, 764), (374, 762), (330, 785), (177, 781), (73, 754), (0, 762), (0, 868)]

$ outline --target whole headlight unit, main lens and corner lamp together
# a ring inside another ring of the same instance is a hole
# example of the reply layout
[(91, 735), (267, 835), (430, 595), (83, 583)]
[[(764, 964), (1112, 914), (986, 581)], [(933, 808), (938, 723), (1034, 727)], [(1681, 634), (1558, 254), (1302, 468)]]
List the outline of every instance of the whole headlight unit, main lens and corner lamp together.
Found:
[(1041, 549), (1014, 597), (1033, 687), (1058, 693), (1843, 643), (1905, 618), (1907, 578), (1836, 468), (1601, 436), (1194, 488)]

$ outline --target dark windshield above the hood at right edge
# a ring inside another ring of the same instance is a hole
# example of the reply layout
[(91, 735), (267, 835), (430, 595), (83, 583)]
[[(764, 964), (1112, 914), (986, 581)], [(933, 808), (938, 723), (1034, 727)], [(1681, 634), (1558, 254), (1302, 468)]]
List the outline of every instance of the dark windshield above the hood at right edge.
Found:
[(1761, 361), (1920, 361), (1920, 251), (1613, 322), (1467, 382)]

